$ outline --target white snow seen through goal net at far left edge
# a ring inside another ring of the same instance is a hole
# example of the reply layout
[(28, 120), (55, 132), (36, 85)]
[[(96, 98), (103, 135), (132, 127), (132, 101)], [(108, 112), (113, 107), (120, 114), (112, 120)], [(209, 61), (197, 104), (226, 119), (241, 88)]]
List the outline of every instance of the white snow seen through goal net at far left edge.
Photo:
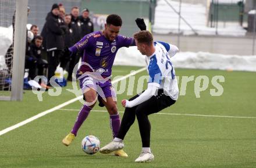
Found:
[(0, 70), (6, 69), (5, 53), (12, 44), (12, 34), (12, 26), (0, 27)]

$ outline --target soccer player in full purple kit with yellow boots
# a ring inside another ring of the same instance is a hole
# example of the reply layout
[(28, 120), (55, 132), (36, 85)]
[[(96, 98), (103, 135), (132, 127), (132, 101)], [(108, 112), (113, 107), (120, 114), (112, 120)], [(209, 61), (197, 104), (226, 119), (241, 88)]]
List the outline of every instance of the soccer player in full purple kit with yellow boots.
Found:
[[(136, 23), (141, 30), (146, 29), (143, 19), (136, 19)], [(110, 80), (112, 65), (119, 48), (136, 45), (133, 38), (118, 35), (121, 26), (122, 19), (120, 16), (109, 15), (106, 18), (105, 30), (87, 34), (73, 47), (66, 49), (65, 54), (68, 55), (72, 55), (77, 51), (84, 51), (83, 63), (77, 72), (77, 77), (80, 80), (80, 88), (86, 101), (80, 109), (71, 133), (67, 134), (62, 140), (62, 143), (66, 146), (70, 145), (74, 140), (81, 124), (83, 124), (90, 110), (94, 107), (97, 101), (97, 93), (99, 94), (99, 105), (105, 106), (108, 110), (113, 138), (118, 134), (120, 117), (116, 106), (115, 91)], [(95, 73), (100, 73), (99, 78), (105, 78), (105, 80), (99, 81), (98, 75), (94, 75)], [(115, 155), (127, 157), (127, 154), (122, 149), (115, 151)]]

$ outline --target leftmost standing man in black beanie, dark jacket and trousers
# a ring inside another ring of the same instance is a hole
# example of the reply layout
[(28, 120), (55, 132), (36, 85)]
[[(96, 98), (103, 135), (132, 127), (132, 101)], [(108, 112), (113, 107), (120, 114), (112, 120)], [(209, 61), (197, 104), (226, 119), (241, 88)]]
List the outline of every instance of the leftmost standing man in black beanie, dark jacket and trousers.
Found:
[(54, 76), (55, 70), (59, 65), (59, 58), (64, 49), (65, 27), (62, 27), (62, 20), (59, 18), (58, 4), (52, 5), (51, 13), (47, 15), (47, 22), (45, 23), (46, 30), (46, 49), (48, 59), (48, 84), (51, 77)]

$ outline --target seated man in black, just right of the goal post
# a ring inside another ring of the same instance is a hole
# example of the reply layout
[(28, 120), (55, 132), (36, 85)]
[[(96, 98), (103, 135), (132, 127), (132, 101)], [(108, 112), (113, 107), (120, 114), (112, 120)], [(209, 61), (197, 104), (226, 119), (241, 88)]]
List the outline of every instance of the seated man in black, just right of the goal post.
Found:
[(38, 35), (34, 37), (34, 42), (31, 42), (29, 55), (26, 59), (25, 67), (29, 69), (29, 78), (34, 79), (36, 76), (36, 70), (38, 70), (37, 74), (39, 76), (43, 75), (44, 68), (47, 68), (48, 63), (47, 60), (42, 59), (42, 36)]

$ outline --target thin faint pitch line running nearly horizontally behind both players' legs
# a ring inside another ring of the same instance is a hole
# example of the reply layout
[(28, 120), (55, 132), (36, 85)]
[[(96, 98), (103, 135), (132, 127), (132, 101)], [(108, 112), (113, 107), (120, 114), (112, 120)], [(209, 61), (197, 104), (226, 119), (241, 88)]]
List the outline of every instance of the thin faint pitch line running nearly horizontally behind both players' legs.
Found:
[[(79, 111), (79, 109), (58, 109), (65, 111)], [(106, 110), (91, 110), (92, 112), (107, 112)], [(124, 112), (119, 112), (124, 113)], [(235, 119), (256, 119), (256, 117), (243, 117), (243, 116), (218, 116), (218, 115), (194, 115), (194, 114), (181, 114), (181, 113), (154, 113), (155, 115), (175, 115), (175, 116), (200, 116), (200, 117), (222, 117), (222, 118), (235, 118)]]

